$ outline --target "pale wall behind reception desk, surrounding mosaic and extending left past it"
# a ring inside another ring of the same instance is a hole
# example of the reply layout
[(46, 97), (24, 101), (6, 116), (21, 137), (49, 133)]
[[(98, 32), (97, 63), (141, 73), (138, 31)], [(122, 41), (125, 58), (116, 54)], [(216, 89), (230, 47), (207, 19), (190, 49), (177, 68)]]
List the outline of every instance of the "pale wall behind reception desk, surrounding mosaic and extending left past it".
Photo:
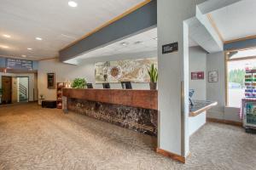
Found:
[[(139, 54), (119, 54), (113, 56), (96, 57), (84, 59), (79, 65), (68, 65), (58, 59), (42, 60), (38, 63), (38, 94), (44, 94), (45, 99), (55, 99), (56, 90), (47, 88), (47, 73), (55, 72), (56, 82), (70, 82), (74, 78), (84, 77), (87, 82), (93, 83), (94, 88), (102, 88), (102, 84), (95, 83), (95, 63), (99, 61), (121, 60), (121, 59), (143, 59), (157, 57), (156, 51)], [(121, 88), (120, 83), (110, 83), (114, 89)], [(149, 89), (148, 83), (132, 83), (134, 89)]]

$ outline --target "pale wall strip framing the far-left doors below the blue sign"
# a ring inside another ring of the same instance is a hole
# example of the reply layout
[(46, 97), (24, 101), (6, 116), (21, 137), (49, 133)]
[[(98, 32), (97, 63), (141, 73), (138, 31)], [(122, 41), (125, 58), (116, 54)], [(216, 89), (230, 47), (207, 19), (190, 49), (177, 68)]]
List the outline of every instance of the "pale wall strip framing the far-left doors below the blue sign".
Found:
[(34, 74), (14, 74), (14, 73), (3, 73), (0, 72), (0, 88), (2, 88), (2, 76), (8, 77), (29, 77), (29, 101), (33, 101), (34, 91)]

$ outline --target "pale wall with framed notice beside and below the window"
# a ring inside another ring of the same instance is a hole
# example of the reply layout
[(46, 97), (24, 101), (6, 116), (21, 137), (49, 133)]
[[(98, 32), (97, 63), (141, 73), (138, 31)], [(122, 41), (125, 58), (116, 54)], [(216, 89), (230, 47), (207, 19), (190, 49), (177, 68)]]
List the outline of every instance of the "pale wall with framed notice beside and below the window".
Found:
[(207, 71), (218, 71), (218, 82), (207, 82), (207, 99), (218, 105), (207, 111), (207, 117), (241, 122), (239, 108), (225, 107), (225, 62), (224, 52), (207, 54)]

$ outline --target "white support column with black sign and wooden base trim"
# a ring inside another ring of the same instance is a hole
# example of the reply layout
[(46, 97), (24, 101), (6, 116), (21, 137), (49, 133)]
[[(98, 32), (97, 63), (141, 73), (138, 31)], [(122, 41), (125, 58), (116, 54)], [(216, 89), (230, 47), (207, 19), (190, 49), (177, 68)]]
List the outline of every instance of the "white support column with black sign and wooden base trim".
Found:
[[(185, 161), (189, 154), (189, 28), (192, 0), (158, 0), (159, 144), (158, 152)], [(200, 1), (202, 2), (202, 1)], [(162, 54), (162, 45), (178, 42), (178, 51)]]

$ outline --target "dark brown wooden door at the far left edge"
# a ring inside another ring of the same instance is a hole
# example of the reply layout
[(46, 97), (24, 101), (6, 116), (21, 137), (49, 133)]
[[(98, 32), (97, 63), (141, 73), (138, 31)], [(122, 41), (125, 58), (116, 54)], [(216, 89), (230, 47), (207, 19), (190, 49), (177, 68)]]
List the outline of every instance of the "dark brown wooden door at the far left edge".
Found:
[(10, 104), (12, 102), (12, 77), (2, 76), (3, 96), (2, 103)]

